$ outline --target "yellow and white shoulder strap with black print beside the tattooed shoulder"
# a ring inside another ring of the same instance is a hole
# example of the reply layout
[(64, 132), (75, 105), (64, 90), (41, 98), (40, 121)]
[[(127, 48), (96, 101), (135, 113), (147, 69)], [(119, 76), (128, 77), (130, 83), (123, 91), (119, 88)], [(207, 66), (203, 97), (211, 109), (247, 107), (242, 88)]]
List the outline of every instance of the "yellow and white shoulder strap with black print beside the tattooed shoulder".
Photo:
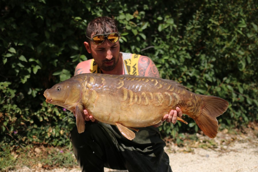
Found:
[(124, 52), (122, 52), (122, 54), (123, 54), (123, 61), (124, 61), (124, 74), (139, 75), (138, 60), (141, 55), (124, 53)]

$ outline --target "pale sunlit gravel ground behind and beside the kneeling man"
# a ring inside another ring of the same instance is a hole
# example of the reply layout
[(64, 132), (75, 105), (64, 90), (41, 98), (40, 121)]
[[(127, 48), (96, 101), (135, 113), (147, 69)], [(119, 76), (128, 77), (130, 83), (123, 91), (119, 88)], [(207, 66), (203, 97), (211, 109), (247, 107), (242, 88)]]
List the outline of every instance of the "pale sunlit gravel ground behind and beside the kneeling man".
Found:
[[(206, 136), (198, 136), (198, 141), (190, 146), (178, 147), (169, 143), (165, 151), (169, 155), (173, 172), (257, 172), (258, 171), (258, 140), (257, 133), (230, 135), (220, 132), (212, 140), (217, 146), (198, 148), (202, 142), (207, 142)], [(80, 172), (79, 168), (52, 170), (29, 169), (22, 167), (11, 172)], [(105, 172), (127, 172), (105, 168)]]

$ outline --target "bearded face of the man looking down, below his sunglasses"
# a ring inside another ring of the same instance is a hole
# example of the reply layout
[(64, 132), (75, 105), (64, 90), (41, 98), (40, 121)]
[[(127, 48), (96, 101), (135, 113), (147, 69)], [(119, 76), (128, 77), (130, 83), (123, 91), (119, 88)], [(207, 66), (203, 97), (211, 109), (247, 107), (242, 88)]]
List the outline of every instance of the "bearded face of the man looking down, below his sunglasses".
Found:
[(119, 60), (119, 40), (116, 43), (111, 43), (105, 39), (105, 41), (100, 45), (95, 45), (93, 42), (90, 44), (92, 57), (99, 68), (104, 71), (112, 71), (118, 64)]

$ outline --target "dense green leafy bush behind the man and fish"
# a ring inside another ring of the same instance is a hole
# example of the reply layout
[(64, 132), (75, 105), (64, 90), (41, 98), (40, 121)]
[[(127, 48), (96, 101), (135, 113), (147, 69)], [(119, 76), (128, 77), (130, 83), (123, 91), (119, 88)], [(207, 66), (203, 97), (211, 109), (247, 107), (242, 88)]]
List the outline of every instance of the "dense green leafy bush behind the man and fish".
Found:
[[(226, 99), (224, 127), (257, 121), (257, 4), (254, 1), (3, 0), (0, 3), (0, 142), (68, 144), (71, 112), (46, 105), (43, 92), (91, 58), (83, 42), (89, 21), (118, 21), (121, 51), (149, 56), (161, 77), (190, 91)], [(176, 136), (197, 132), (165, 124)], [(0, 148), (1, 149), (1, 148)]]

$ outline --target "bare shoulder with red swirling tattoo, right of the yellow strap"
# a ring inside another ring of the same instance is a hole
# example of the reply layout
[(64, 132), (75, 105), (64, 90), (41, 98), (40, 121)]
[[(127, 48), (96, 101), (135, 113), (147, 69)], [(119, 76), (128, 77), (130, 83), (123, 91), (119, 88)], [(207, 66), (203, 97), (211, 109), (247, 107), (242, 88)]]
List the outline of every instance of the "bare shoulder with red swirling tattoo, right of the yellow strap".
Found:
[(138, 60), (138, 71), (140, 76), (160, 77), (156, 65), (147, 56), (140, 56)]

